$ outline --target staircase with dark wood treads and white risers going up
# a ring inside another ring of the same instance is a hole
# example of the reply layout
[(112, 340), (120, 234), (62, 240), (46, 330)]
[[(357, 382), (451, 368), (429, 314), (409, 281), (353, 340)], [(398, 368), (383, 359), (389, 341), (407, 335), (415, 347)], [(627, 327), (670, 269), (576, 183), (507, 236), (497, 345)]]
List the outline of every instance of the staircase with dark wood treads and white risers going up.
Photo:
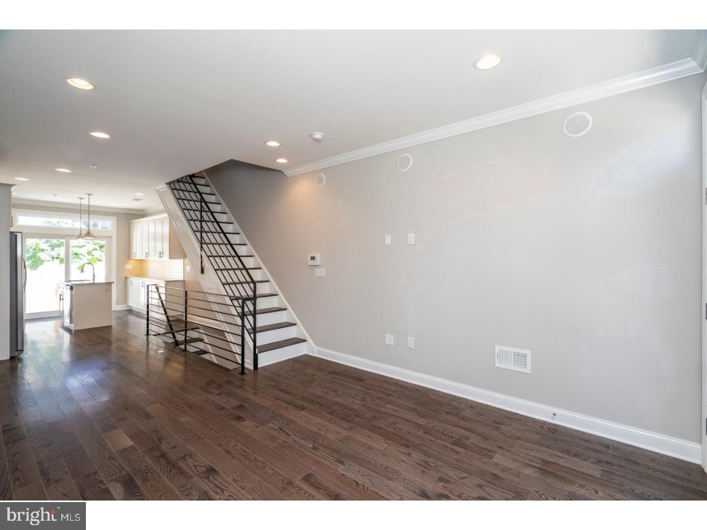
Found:
[[(228, 368), (245, 365), (257, 370), (308, 353), (312, 346), (303, 327), (208, 180), (187, 175), (158, 187), (158, 194), (189, 260), (194, 266), (198, 264), (203, 290), (196, 291), (201, 293), (196, 296), (204, 298), (201, 305), (209, 301), (208, 310), (188, 310), (188, 324), (182, 320), (177, 326), (184, 336), (177, 339), (171, 334), (174, 341)], [(193, 299), (194, 291), (183, 296)], [(184, 307), (186, 313), (187, 302)], [(185, 316), (174, 307), (170, 311)], [(214, 319), (221, 324), (214, 326)], [(201, 329), (200, 320), (204, 322)], [(236, 321), (243, 329), (243, 341), (217, 340), (230, 337)], [(216, 338), (204, 339), (203, 329)], [(170, 330), (163, 334), (169, 336)], [(230, 355), (224, 345), (230, 348)]]

